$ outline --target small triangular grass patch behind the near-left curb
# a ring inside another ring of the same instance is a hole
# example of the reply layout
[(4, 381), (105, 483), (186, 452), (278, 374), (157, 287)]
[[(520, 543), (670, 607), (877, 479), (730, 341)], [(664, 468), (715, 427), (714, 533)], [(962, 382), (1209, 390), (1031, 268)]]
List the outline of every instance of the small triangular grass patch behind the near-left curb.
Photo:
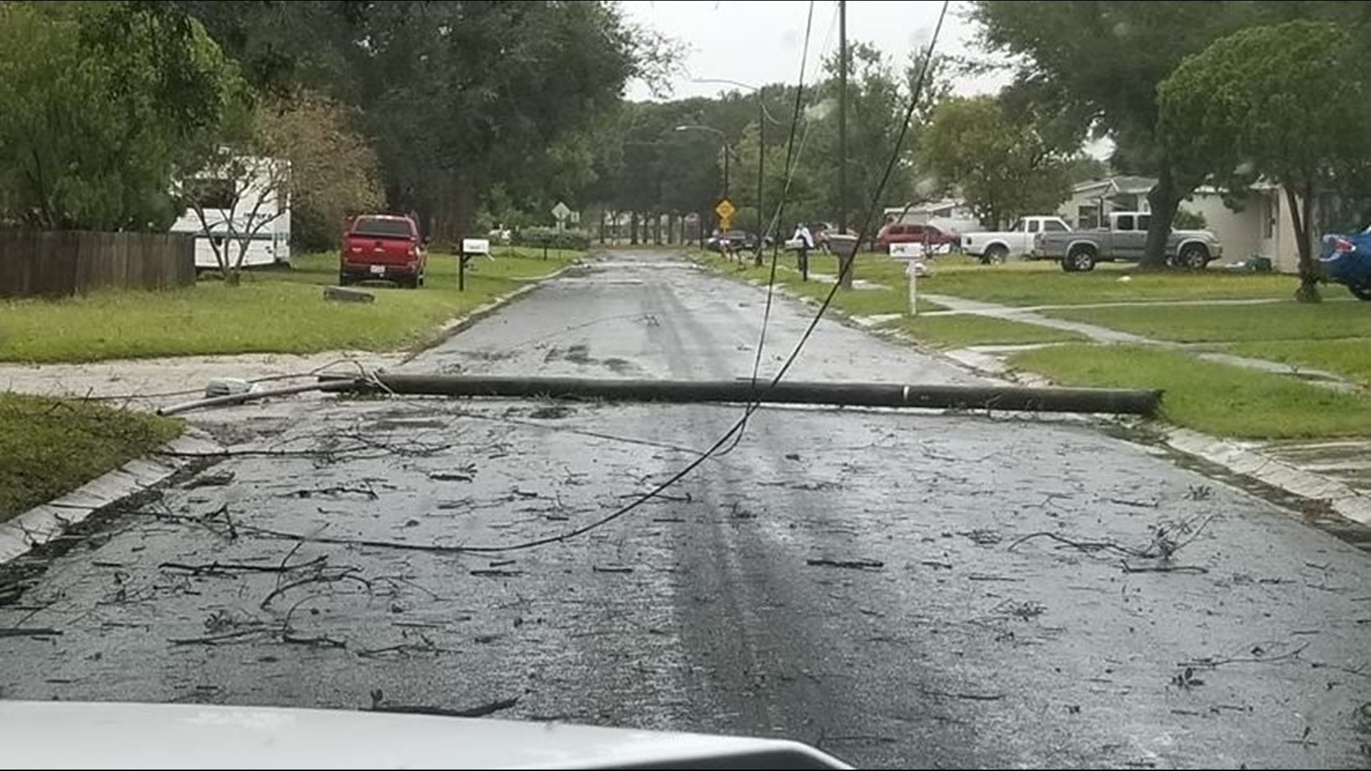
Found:
[(70, 493), (181, 432), (95, 402), (0, 394), (0, 521)]

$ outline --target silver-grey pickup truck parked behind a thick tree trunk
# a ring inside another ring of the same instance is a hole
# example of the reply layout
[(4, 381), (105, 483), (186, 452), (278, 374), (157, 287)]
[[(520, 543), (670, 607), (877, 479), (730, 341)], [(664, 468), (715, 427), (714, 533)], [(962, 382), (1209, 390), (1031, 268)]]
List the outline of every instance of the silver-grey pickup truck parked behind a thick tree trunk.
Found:
[[(1028, 257), (1060, 259), (1067, 272), (1094, 270), (1100, 261), (1142, 259), (1150, 220), (1145, 211), (1115, 211), (1108, 228), (1038, 233)], [(1222, 255), (1223, 244), (1209, 230), (1171, 230), (1167, 237), (1167, 259), (1182, 268), (1198, 270)]]

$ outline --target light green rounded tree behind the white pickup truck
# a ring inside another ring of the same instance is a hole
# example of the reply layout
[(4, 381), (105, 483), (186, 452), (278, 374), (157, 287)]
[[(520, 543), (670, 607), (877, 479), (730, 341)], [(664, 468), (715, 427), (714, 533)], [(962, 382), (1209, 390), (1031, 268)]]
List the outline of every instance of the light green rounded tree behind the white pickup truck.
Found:
[(982, 224), (1054, 211), (1068, 193), (1067, 154), (1032, 123), (1010, 121), (990, 96), (947, 99), (921, 144), (941, 189), (957, 189)]

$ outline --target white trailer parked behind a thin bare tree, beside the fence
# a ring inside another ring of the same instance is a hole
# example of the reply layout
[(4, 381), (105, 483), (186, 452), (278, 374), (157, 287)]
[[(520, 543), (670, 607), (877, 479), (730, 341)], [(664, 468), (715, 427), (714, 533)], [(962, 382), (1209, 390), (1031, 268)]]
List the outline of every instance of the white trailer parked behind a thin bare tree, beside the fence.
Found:
[(197, 270), (219, 269), (221, 258), (234, 265), (244, 241), (243, 268), (289, 265), (287, 163), (271, 158), (240, 158), (230, 166), (232, 171), (200, 173), (193, 184), (180, 185), (185, 209), (171, 232), (196, 236)]

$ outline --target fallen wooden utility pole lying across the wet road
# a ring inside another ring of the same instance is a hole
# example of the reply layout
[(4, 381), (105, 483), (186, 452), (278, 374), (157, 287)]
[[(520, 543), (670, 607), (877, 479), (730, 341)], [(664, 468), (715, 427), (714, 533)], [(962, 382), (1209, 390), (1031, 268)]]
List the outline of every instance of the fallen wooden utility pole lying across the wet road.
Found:
[[(351, 383), (339, 386), (337, 383)], [(622, 402), (724, 402), (835, 405), (851, 407), (987, 409), (1153, 414), (1161, 391), (1119, 388), (1020, 388), (1008, 386), (901, 386), (893, 383), (799, 383), (749, 380), (599, 380), (459, 375), (376, 375), (370, 381), (335, 381), (333, 390), (396, 395), (603, 399)]]

